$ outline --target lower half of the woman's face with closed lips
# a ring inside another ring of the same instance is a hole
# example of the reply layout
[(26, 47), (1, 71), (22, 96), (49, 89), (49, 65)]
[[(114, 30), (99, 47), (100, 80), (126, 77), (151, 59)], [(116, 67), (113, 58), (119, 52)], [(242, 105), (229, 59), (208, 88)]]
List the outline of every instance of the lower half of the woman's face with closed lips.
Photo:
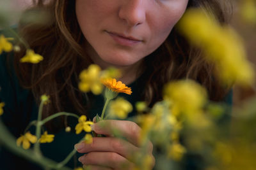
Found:
[(76, 0), (77, 21), (96, 64), (131, 66), (154, 52), (188, 0)]

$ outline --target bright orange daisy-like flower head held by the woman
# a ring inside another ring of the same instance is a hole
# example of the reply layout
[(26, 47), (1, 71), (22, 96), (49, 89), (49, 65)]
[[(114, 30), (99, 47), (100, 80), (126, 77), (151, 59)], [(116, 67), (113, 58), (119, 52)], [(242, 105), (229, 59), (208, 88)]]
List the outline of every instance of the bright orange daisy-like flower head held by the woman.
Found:
[(122, 81), (117, 81), (115, 78), (107, 78), (102, 80), (102, 83), (108, 87), (108, 89), (118, 92), (118, 93), (125, 93), (125, 94), (131, 94), (132, 90), (131, 87), (127, 87)]

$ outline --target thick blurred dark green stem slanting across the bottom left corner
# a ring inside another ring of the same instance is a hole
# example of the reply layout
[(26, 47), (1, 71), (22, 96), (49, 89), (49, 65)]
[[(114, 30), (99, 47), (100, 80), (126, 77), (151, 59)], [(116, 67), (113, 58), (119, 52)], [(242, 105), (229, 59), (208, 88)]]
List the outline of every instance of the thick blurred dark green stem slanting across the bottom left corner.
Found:
[[(1, 146), (6, 147), (11, 152), (24, 157), (25, 159), (35, 162), (42, 167), (48, 167), (49, 169), (58, 169), (58, 162), (54, 162), (51, 159), (45, 157), (36, 157), (36, 153), (33, 150), (24, 150), (23, 148), (16, 145), (16, 139), (6, 129), (3, 122), (0, 120), (0, 143)], [(61, 170), (72, 170), (69, 167), (61, 167)]]

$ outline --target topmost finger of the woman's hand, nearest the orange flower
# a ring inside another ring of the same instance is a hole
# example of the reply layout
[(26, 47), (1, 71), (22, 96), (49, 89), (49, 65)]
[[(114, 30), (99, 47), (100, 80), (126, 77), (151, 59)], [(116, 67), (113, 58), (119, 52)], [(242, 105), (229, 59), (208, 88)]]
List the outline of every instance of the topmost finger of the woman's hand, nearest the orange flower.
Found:
[(129, 142), (135, 146), (140, 146), (139, 137), (141, 128), (134, 122), (127, 120), (102, 120), (92, 125), (93, 131), (97, 134), (113, 136), (118, 131)]

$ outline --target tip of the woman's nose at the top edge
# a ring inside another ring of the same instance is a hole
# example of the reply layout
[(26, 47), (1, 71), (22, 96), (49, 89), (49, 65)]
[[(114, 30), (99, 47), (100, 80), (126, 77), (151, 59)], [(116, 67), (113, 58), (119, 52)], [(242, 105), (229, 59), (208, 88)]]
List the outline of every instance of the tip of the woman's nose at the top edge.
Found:
[[(120, 0), (121, 1), (121, 0)], [(136, 26), (143, 24), (146, 19), (145, 0), (123, 0), (124, 4), (120, 6), (118, 17), (125, 20), (127, 25)]]

